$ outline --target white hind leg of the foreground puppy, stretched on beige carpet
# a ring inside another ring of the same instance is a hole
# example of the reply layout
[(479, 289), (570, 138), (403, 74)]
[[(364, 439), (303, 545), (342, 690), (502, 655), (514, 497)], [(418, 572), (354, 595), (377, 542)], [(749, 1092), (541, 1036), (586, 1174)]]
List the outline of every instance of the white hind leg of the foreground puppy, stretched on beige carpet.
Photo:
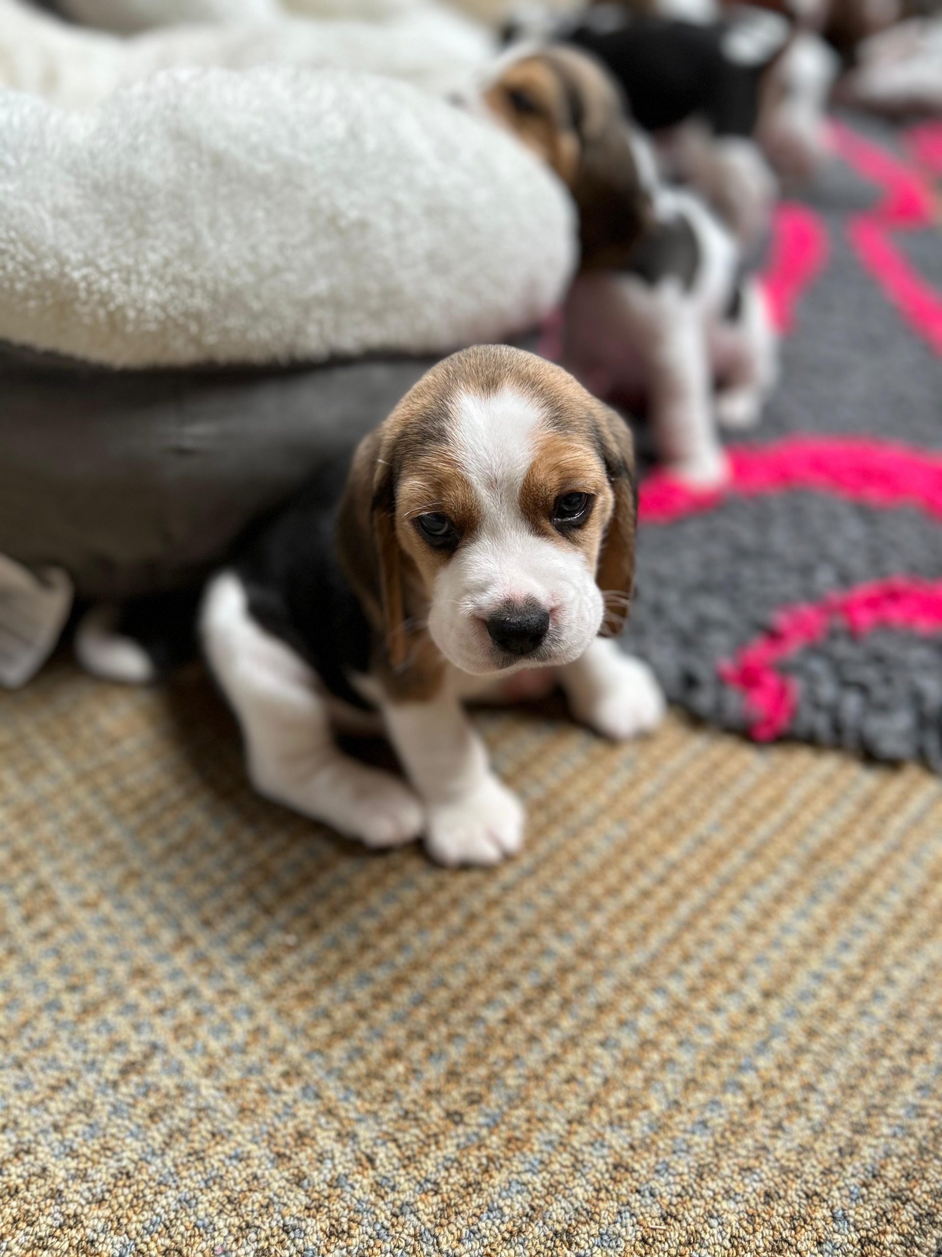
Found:
[(235, 573), (222, 572), (210, 583), (200, 632), (239, 718), (259, 793), (371, 847), (418, 837), (425, 815), (416, 796), (391, 773), (337, 747), (314, 672), (252, 620)]

